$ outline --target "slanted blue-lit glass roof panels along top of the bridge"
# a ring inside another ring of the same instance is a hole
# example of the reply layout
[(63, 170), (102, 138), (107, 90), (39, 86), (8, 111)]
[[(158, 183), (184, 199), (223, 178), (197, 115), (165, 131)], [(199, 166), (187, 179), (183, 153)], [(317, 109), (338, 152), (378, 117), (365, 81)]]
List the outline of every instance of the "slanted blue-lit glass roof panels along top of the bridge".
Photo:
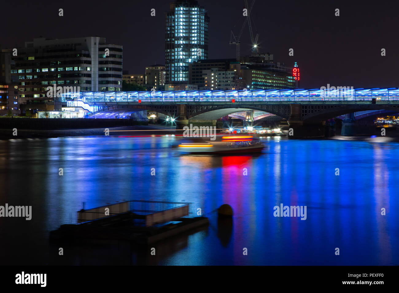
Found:
[[(275, 90), (275, 89), (269, 89), (269, 90), (264, 90), (264, 89), (243, 89), (243, 90), (154, 90), (154, 91), (102, 91), (102, 92), (79, 92), (79, 93), (64, 93), (64, 97), (70, 97), (70, 96), (91, 96), (95, 98), (101, 98), (101, 97), (111, 97), (111, 96), (128, 96), (129, 94), (131, 95), (138, 95), (138, 96), (182, 96), (182, 95), (188, 95), (188, 96), (195, 96), (196, 94), (198, 95), (261, 95), (261, 94), (266, 94), (266, 95), (272, 95), (272, 94), (303, 94), (303, 95), (308, 95), (308, 94), (321, 94), (322, 92), (339, 92), (339, 89), (336, 89), (333, 87), (334, 90), (327, 89), (327, 90), (321, 90), (320, 88), (294, 88), (294, 89), (281, 89), (281, 90)], [(341, 88), (341, 90), (347, 90), (346, 88)], [(348, 89), (350, 90), (350, 89)], [(374, 92), (397, 92), (399, 91), (399, 88), (396, 87), (390, 87), (390, 88), (354, 88), (354, 92), (356, 93), (362, 93), (362, 94), (371, 94)]]

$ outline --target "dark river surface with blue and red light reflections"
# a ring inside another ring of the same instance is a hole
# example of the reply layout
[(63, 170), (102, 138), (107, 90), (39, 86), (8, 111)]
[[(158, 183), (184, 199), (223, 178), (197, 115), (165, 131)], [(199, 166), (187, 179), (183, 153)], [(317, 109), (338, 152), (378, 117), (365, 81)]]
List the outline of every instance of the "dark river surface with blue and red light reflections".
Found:
[[(263, 141), (258, 156), (182, 156), (176, 137), (0, 141), (0, 205), (32, 206), (32, 220), (0, 217), (0, 264), (399, 265), (398, 143)], [(156, 256), (122, 241), (65, 244), (59, 256), (49, 243), (83, 203), (132, 199), (192, 203), (210, 225), (150, 246)], [(222, 204), (232, 221), (217, 220)], [(275, 217), (280, 204), (306, 206), (306, 220)]]

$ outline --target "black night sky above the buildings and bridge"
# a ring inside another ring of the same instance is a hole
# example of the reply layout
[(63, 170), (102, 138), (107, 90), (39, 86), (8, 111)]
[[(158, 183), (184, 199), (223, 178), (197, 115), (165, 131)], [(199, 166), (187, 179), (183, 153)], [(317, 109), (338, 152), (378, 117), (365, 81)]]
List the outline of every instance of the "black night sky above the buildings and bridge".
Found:
[[(248, 0), (249, 3), (252, 0)], [(256, 0), (253, 19), (262, 51), (275, 61), (298, 62), (301, 87), (399, 87), (399, 4), (393, 1), (265, 1)], [(170, 1), (65, 0), (2, 3), (1, 47), (23, 46), (40, 35), (68, 38), (99, 35), (123, 45), (123, 69), (165, 63), (165, 12)], [(372, 3), (372, 4), (371, 4)], [(210, 16), (209, 58), (235, 58), (230, 31), (243, 24), (243, 0), (199, 0)], [(58, 16), (63, 8), (64, 16)], [(150, 10), (156, 16), (150, 16)], [(334, 16), (335, 9), (340, 16)], [(254, 28), (255, 29), (255, 28)], [(241, 52), (249, 54), (249, 30)], [(294, 56), (288, 56), (288, 49)], [(381, 56), (381, 48), (386, 56)], [(243, 54), (242, 54), (243, 55)]]

